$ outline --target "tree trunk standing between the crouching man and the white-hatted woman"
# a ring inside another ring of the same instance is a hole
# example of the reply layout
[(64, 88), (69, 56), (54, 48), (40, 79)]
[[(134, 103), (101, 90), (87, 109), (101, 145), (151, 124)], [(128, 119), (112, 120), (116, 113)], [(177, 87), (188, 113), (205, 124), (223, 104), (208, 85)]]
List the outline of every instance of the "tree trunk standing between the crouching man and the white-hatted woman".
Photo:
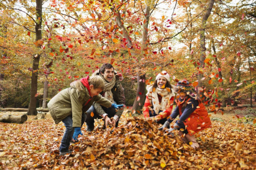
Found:
[[(145, 19), (146, 22), (144, 22), (143, 25), (143, 32), (142, 32), (142, 40), (141, 40), (141, 50), (148, 46), (148, 22), (149, 22), (149, 14), (150, 14), (150, 6), (146, 6), (145, 11)], [(136, 98), (132, 106), (132, 114), (134, 112), (138, 112), (141, 114), (142, 107), (144, 105), (144, 94), (145, 94), (145, 88), (146, 88), (146, 74), (141, 74), (137, 76), (137, 82), (138, 82), (138, 88), (136, 92)]]

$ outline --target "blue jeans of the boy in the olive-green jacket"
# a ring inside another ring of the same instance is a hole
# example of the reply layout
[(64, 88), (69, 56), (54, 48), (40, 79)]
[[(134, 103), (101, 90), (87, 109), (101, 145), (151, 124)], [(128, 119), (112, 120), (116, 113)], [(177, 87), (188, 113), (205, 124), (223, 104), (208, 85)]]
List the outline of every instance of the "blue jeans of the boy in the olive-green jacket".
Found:
[[(86, 115), (85, 115), (85, 113), (83, 113), (82, 114), (82, 120), (81, 120), (81, 127), (84, 124), (85, 119), (86, 119)], [(64, 126), (66, 127), (66, 130), (65, 130), (64, 135), (62, 137), (61, 144), (60, 144), (60, 147), (59, 147), (59, 151), (60, 152), (67, 152), (67, 151), (69, 151), (70, 140), (72, 139), (72, 135), (73, 135), (73, 132), (74, 132), (72, 115), (69, 115), (68, 117), (63, 119), (62, 122), (64, 123)]]

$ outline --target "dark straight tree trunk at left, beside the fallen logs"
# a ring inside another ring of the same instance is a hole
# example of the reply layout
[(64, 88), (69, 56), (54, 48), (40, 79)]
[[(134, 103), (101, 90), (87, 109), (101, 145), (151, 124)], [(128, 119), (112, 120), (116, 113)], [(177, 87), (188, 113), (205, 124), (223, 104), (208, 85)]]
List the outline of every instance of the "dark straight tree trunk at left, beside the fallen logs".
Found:
[[(36, 0), (36, 42), (42, 39), (42, 0)], [(40, 48), (40, 45), (38, 45)], [(36, 115), (36, 93), (40, 55), (33, 56), (33, 71), (31, 77), (30, 105), (27, 115)], [(35, 71), (35, 72), (34, 72)]]

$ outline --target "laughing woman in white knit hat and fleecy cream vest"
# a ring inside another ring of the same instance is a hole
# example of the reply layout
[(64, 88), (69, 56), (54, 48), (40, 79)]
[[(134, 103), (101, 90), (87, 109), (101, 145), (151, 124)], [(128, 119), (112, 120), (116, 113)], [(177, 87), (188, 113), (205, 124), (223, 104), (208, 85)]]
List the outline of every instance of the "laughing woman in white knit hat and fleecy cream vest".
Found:
[(154, 84), (147, 86), (147, 91), (143, 107), (144, 118), (154, 119), (154, 121), (164, 124), (167, 117), (171, 115), (175, 96), (169, 74), (166, 71), (159, 73)]

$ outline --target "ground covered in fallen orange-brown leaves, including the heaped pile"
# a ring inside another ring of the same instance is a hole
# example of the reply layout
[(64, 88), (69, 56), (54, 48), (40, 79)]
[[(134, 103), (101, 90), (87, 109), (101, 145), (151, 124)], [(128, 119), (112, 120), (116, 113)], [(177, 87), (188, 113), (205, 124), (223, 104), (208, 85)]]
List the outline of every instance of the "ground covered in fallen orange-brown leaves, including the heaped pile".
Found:
[[(65, 127), (50, 115), (24, 124), (0, 123), (0, 170), (254, 170), (256, 127), (232, 114), (211, 115), (212, 128), (197, 135), (200, 149), (158, 131), (159, 125), (123, 114), (120, 125), (86, 132), (72, 144), (72, 154), (59, 156)], [(102, 123), (102, 122), (101, 122)]]

